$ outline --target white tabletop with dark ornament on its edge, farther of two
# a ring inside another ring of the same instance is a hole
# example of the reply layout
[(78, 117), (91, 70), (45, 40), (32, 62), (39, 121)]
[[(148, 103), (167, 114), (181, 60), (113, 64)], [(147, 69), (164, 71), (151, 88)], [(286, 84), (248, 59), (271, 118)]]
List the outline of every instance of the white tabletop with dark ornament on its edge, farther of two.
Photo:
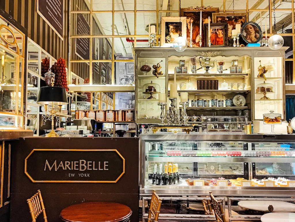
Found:
[(268, 211), (268, 206), (273, 206), (273, 212), (295, 212), (295, 204), (284, 201), (264, 201), (264, 200), (242, 200), (238, 202), (238, 205), (243, 208)]

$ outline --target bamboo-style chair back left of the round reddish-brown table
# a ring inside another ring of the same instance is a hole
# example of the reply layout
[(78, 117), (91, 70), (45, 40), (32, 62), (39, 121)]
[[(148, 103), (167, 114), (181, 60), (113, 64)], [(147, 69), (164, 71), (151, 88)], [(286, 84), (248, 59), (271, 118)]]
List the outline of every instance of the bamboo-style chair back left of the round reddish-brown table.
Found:
[(48, 222), (40, 190), (38, 190), (38, 192), (34, 196), (32, 196), (30, 199), (27, 199), (27, 203), (29, 205), (32, 222), (35, 222), (37, 217), (42, 212), (43, 212), (44, 222)]

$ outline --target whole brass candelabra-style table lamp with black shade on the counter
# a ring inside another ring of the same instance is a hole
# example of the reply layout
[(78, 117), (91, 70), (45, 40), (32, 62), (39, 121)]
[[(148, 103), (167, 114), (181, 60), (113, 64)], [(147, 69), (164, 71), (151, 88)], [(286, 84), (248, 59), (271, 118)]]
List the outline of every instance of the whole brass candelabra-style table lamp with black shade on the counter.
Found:
[[(61, 106), (68, 104), (67, 95), (65, 93), (65, 88), (56, 86), (45, 86), (41, 87), (38, 93), (37, 103), (44, 105), (45, 115), (51, 117), (51, 131), (46, 134), (45, 137), (59, 137), (59, 135), (53, 130), (54, 128), (54, 116), (60, 116)], [(52, 105), (47, 115), (47, 107)], [(54, 107), (58, 106), (58, 107)], [(59, 115), (57, 115), (59, 112)]]

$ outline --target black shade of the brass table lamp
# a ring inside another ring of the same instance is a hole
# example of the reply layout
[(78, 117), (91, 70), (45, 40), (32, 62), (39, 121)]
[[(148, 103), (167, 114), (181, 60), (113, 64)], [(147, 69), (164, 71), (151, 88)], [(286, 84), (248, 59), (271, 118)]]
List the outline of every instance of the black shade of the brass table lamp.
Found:
[(42, 105), (65, 105), (68, 104), (65, 88), (55, 86), (41, 87), (38, 93), (37, 103)]

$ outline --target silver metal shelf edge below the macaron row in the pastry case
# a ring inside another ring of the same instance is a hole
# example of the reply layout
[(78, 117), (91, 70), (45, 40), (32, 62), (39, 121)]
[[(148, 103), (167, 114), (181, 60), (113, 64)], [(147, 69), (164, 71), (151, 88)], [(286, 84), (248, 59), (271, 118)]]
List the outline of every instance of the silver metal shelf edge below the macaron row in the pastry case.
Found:
[(295, 161), (295, 157), (147, 157), (149, 162), (260, 162), (260, 163), (290, 163)]

